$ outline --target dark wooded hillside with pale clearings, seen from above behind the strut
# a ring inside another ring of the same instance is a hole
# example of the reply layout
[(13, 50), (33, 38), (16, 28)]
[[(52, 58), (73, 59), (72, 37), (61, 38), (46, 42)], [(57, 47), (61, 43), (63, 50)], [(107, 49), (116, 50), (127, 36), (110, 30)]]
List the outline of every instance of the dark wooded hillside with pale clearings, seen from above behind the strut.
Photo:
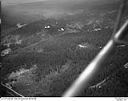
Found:
[[(58, 8), (51, 2), (9, 7), (21, 10), (23, 16), (17, 15), (13, 24), (4, 22), (2, 28), (1, 79), (8, 87), (24, 96), (61, 96), (111, 38), (119, 2), (66, 4)], [(30, 10), (40, 13), (42, 5), (57, 10), (62, 6), (64, 15), (31, 18)], [(30, 15), (24, 17), (24, 11)], [(122, 23), (128, 19), (127, 12)], [(127, 51), (128, 45), (117, 45), (80, 96), (128, 96)]]

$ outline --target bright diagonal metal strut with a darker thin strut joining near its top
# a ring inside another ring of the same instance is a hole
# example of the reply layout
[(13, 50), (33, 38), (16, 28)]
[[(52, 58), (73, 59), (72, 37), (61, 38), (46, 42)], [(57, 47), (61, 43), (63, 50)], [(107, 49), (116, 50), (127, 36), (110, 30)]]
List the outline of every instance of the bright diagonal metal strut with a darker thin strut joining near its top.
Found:
[(99, 54), (92, 60), (92, 62), (90, 62), (90, 64), (85, 68), (85, 70), (79, 75), (79, 77), (73, 82), (69, 89), (64, 92), (62, 96), (79, 96), (83, 89), (89, 86), (89, 82), (93, 80), (93, 78), (99, 72), (99, 70), (101, 69), (101, 65), (103, 64), (105, 59), (111, 54), (114, 47), (119, 43), (119, 40), (122, 40), (126, 36), (126, 34), (128, 34), (128, 20), (119, 29), (121, 18), (126, 8), (126, 1), (127, 0), (123, 0), (120, 6), (117, 21), (115, 23), (111, 39), (99, 52)]

